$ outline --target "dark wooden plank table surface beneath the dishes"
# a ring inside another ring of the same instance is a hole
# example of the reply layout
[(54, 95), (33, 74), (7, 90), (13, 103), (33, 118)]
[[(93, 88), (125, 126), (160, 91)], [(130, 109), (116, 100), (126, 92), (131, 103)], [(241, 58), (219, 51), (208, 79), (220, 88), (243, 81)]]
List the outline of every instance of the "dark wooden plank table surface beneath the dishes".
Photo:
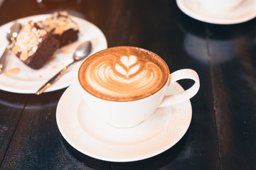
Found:
[[(174, 0), (5, 0), (0, 26), (60, 10), (94, 23), (108, 47), (143, 47), (171, 72), (196, 70), (201, 88), (191, 98), (191, 125), (155, 157), (105, 162), (78, 152), (60, 134), (55, 113), (65, 89), (40, 96), (0, 90), (0, 169), (256, 169), (256, 19), (203, 23)], [(186, 89), (191, 82), (180, 84)]]

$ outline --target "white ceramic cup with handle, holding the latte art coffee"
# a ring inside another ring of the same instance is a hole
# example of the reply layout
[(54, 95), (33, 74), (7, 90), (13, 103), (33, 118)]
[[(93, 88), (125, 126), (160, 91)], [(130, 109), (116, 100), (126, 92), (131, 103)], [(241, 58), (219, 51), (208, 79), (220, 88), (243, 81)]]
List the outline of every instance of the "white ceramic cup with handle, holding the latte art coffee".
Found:
[[(114, 50), (117, 49), (117, 51), (119, 50), (118, 47), (110, 48), (110, 50), (113, 50), (113, 49)], [(135, 49), (138, 51), (144, 50), (137, 47), (129, 47), (129, 49), (132, 49), (132, 50)], [(103, 52), (102, 54), (106, 55), (107, 50), (102, 50), (101, 51)], [(147, 50), (144, 50), (144, 51), (149, 52)], [(101, 52), (97, 52), (96, 55), (100, 56)], [(154, 56), (160, 58), (158, 55), (155, 55), (153, 52), (149, 52), (149, 53), (151, 55), (153, 54)], [(93, 59), (94, 55), (90, 57), (92, 57)], [(80, 69), (78, 72), (78, 81), (80, 82), (82, 96), (85, 99), (87, 105), (91, 108), (91, 110), (95, 114), (97, 114), (97, 116), (100, 119), (117, 128), (131, 128), (136, 125), (139, 125), (139, 123), (142, 123), (144, 120), (149, 118), (149, 116), (152, 113), (154, 113), (156, 108), (171, 106), (176, 103), (181, 103), (182, 101), (186, 101), (192, 98), (194, 95), (196, 95), (200, 86), (198, 74), (192, 69), (180, 69), (176, 72), (173, 72), (172, 74), (169, 74), (169, 69), (166, 64), (167, 71), (168, 71), (166, 74), (167, 79), (166, 79), (166, 82), (164, 82), (164, 85), (161, 86), (159, 91), (156, 91), (154, 94), (150, 94), (149, 96), (146, 96), (144, 98), (135, 99), (133, 101), (112, 101), (105, 98), (101, 98), (93, 94), (94, 91), (88, 92), (85, 87), (87, 86), (87, 82), (82, 83), (82, 81), (84, 81), (83, 77), (85, 76), (85, 74), (90, 74), (90, 72), (96, 72), (95, 69), (91, 69), (91, 70), (88, 69), (90, 71), (83, 70), (83, 69), (87, 69), (86, 67), (88, 67), (88, 64), (94, 61), (95, 60), (91, 60), (91, 61), (85, 60), (85, 62), (83, 62), (82, 65), (80, 66)], [(105, 60), (99, 60), (99, 61), (105, 62)], [(162, 60), (162, 62), (164, 63), (162, 65), (165, 65), (164, 60)], [(193, 81), (195, 81), (195, 83), (193, 84), (193, 86), (191, 86), (191, 88), (181, 92), (180, 94), (165, 96), (166, 90), (169, 88), (170, 84), (173, 84), (174, 82), (181, 79), (192, 79)], [(127, 91), (127, 93), (129, 93), (129, 91)]]

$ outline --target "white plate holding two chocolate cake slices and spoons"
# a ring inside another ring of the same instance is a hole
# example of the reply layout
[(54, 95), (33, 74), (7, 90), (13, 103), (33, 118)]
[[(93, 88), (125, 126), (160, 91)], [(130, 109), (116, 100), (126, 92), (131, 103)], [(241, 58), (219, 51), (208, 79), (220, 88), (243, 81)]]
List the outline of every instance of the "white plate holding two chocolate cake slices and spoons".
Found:
[[(24, 24), (29, 20), (41, 21), (45, 20), (48, 16), (49, 14), (29, 16), (26, 18), (18, 19), (16, 21), (11, 21), (0, 27), (0, 35), (6, 35), (6, 30), (10, 28), (15, 22)], [(15, 76), (0, 74), (0, 89), (21, 94), (36, 93), (36, 91), (43, 84), (45, 84), (48, 79), (53, 77), (53, 75), (59, 72), (60, 69), (62, 69), (65, 65), (72, 62), (73, 52), (81, 42), (84, 42), (86, 40), (92, 41), (92, 52), (90, 54), (107, 48), (107, 40), (105, 38), (105, 35), (99, 28), (97, 28), (89, 21), (85, 21), (82, 18), (73, 16), (73, 20), (80, 26), (78, 40), (70, 45), (62, 47), (60, 50), (55, 52), (53, 60), (46, 64), (46, 66), (44, 66), (43, 68), (38, 70), (31, 69), (30, 67), (27, 67), (25, 64), (23, 64), (21, 60), (19, 60), (15, 55), (11, 53), (5, 71), (19, 68), (20, 72)], [(6, 36), (1, 36), (0, 44), (0, 54), (2, 54), (6, 45), (8, 44)], [(61, 77), (55, 84), (53, 84), (53, 86), (51, 86), (46, 91), (55, 91), (69, 86), (73, 81), (75, 81), (80, 64), (82, 64), (82, 61), (73, 64), (73, 66), (68, 69), (68, 72), (66, 72), (63, 77)]]

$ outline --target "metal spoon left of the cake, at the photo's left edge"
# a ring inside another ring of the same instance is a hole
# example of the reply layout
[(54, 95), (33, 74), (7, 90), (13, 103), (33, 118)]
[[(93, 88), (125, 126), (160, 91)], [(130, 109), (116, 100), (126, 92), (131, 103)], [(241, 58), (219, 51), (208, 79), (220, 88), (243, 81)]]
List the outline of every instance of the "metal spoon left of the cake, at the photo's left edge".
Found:
[(6, 50), (4, 50), (3, 55), (0, 58), (0, 74), (4, 72), (4, 66), (6, 62), (6, 57), (8, 55), (9, 50), (11, 47), (14, 46), (16, 42), (16, 37), (18, 36), (18, 32), (21, 30), (21, 24), (20, 23), (14, 23), (11, 28), (7, 30), (7, 40), (9, 40), (9, 45), (6, 46)]

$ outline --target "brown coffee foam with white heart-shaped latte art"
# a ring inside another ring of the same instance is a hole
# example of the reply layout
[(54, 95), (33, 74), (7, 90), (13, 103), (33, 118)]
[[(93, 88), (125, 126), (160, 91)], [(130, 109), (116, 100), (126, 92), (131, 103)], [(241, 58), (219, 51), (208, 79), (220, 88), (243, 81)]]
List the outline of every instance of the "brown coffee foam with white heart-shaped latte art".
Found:
[(137, 47), (112, 47), (87, 58), (78, 79), (92, 96), (134, 101), (159, 91), (169, 79), (169, 69), (153, 52)]

